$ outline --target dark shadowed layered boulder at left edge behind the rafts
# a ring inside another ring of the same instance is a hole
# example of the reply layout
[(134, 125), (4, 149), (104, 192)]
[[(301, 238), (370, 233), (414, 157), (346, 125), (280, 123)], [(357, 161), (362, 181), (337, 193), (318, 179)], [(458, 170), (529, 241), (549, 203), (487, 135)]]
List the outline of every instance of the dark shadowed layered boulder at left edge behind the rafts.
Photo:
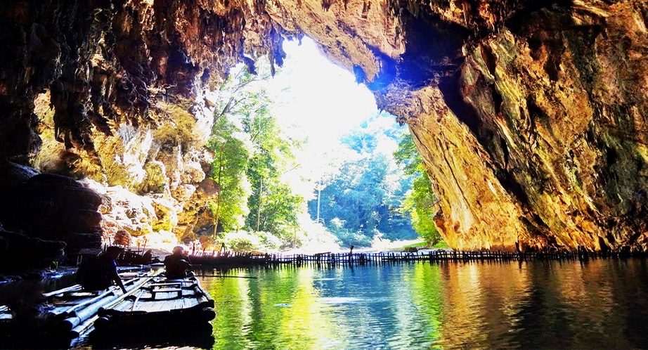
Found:
[(67, 176), (30, 174), (13, 164), (5, 169), (13, 171), (0, 174), (6, 185), (0, 190), (0, 260), (12, 262), (0, 264), (0, 271), (47, 267), (63, 257), (63, 247), (75, 254), (101, 246), (98, 193)]

